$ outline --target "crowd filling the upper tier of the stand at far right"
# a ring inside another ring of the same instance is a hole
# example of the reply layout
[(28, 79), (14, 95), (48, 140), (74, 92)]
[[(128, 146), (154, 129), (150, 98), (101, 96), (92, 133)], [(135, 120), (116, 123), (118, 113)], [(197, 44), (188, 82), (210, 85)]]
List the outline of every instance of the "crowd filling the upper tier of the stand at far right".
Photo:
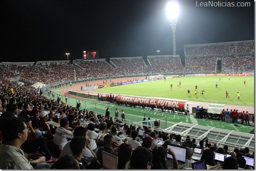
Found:
[(185, 45), (185, 58), (210, 56), (254, 56), (254, 41)]

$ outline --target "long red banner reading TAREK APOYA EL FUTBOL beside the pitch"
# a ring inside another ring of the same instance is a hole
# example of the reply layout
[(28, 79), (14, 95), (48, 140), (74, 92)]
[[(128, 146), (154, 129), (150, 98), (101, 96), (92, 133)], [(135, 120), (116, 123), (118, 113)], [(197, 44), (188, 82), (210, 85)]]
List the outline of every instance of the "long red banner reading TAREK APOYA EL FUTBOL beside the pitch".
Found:
[(134, 104), (173, 107), (177, 109), (184, 109), (185, 103), (187, 102), (187, 100), (160, 99), (160, 98), (140, 97), (140, 96), (118, 96), (117, 101), (134, 103)]

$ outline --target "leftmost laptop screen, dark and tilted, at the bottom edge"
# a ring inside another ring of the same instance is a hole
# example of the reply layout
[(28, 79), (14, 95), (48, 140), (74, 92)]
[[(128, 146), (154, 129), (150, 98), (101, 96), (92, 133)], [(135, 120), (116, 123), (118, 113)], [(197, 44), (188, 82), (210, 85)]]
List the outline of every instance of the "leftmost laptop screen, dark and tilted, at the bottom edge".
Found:
[(102, 165), (104, 168), (116, 170), (118, 169), (118, 157), (102, 151)]

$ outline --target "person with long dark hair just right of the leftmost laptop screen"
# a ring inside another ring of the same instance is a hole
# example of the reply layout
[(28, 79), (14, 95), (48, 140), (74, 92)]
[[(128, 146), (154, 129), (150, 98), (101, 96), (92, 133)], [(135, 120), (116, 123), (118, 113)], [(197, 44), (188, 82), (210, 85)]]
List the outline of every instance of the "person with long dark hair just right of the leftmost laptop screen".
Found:
[(122, 143), (118, 148), (118, 169), (129, 169), (130, 158), (132, 155), (132, 146), (128, 143)]

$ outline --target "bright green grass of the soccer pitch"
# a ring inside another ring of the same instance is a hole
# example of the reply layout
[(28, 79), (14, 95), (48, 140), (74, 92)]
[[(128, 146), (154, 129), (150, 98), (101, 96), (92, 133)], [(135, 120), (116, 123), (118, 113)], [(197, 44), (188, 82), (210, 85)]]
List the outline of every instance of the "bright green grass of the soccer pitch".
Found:
[[(220, 81), (219, 81), (220, 78)], [(246, 85), (244, 85), (246, 80)], [(177, 82), (181, 81), (181, 86)], [(215, 87), (218, 82), (218, 88)], [(170, 84), (172, 84), (172, 89)], [(197, 96), (194, 94), (197, 84)], [(188, 95), (187, 90), (190, 90)], [(203, 96), (201, 90), (205, 91)], [(99, 91), (98, 89), (95, 91)], [(194, 76), (167, 78), (166, 81), (150, 81), (146, 83), (135, 83), (110, 88), (101, 88), (101, 92), (107, 94), (126, 94), (145, 97), (162, 97), (180, 100), (202, 101), (210, 103), (232, 104), (254, 106), (254, 77), (251, 76)], [(226, 98), (228, 91), (230, 98)], [(237, 93), (240, 93), (238, 100)]]

